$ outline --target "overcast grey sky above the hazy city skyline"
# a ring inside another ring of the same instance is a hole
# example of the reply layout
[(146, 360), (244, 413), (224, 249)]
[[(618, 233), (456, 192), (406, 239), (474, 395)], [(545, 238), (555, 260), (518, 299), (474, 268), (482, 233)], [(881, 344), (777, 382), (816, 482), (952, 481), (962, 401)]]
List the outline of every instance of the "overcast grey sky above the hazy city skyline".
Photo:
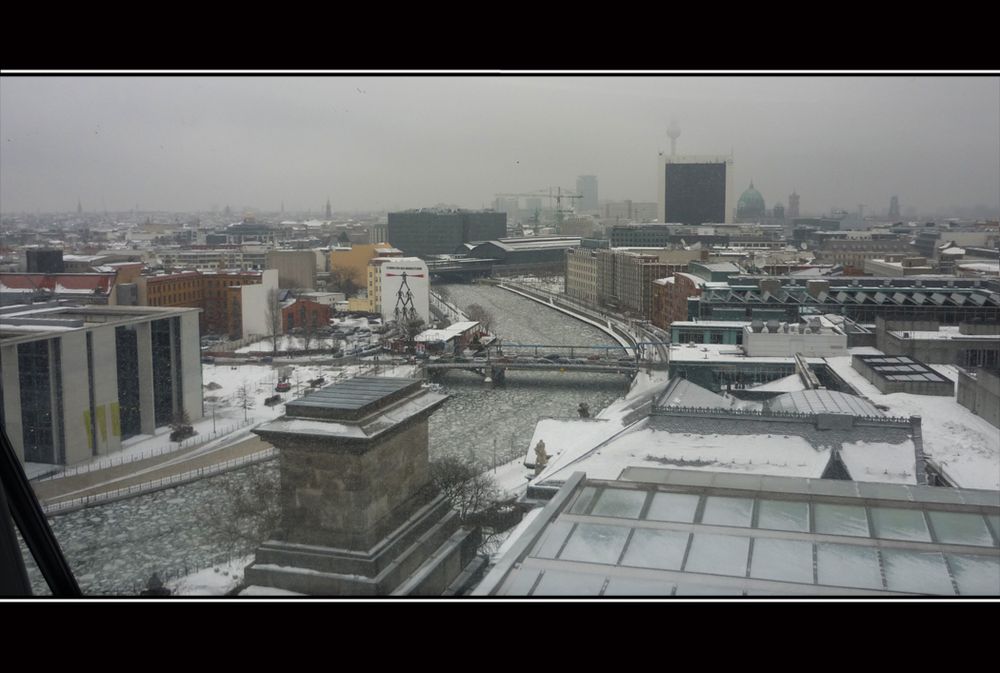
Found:
[[(0, 209), (656, 200), (657, 152), (734, 155), (768, 207), (1000, 207), (1000, 77), (4, 77)], [(103, 203), (103, 206), (102, 206)]]

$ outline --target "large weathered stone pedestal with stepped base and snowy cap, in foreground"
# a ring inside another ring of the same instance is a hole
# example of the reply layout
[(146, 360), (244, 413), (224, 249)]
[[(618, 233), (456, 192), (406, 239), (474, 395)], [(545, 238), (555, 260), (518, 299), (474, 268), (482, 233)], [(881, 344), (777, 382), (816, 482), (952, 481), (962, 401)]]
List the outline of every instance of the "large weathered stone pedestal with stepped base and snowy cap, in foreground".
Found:
[(247, 584), (329, 596), (448, 589), (478, 533), (430, 480), (427, 419), (445, 399), (412, 379), (357, 378), (254, 430), (280, 450), (282, 518)]

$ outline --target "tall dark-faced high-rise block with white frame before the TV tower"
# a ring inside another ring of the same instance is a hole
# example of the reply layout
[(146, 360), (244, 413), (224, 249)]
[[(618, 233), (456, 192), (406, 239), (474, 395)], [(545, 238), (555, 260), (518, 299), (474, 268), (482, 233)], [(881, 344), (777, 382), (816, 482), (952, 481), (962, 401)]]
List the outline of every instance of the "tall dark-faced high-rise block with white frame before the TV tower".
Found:
[(659, 157), (660, 222), (732, 222), (733, 159), (727, 156)]

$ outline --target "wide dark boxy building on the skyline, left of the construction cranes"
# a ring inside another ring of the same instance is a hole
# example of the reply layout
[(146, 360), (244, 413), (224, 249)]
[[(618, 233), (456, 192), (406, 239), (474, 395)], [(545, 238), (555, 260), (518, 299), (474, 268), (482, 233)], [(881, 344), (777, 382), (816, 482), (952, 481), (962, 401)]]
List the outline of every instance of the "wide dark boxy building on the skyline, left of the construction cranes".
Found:
[(452, 254), (462, 243), (507, 235), (507, 215), (495, 211), (407, 210), (389, 213), (389, 243), (407, 255)]

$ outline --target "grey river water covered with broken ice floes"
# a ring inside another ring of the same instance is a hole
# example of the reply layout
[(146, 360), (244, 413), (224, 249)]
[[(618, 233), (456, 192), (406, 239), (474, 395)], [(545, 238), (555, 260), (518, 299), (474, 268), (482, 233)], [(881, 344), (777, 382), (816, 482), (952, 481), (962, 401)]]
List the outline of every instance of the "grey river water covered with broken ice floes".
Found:
[[(444, 287), (452, 303), (486, 308), (506, 343), (614, 343), (594, 327), (499, 288)], [(451, 397), (430, 420), (431, 458), (471, 453), (490, 464), (494, 457), (523, 454), (539, 418), (576, 416), (580, 402), (596, 412), (624, 394), (627, 383), (621, 375), (512, 371), (504, 385), (490, 387), (471, 372), (449, 372), (440, 385)], [(135, 595), (154, 572), (169, 579), (228, 558), (208, 523), (225, 505), (227, 484), (276, 474), (272, 461), (54, 516), (50, 523), (85, 594)], [(29, 566), (36, 592), (48, 593)]]

